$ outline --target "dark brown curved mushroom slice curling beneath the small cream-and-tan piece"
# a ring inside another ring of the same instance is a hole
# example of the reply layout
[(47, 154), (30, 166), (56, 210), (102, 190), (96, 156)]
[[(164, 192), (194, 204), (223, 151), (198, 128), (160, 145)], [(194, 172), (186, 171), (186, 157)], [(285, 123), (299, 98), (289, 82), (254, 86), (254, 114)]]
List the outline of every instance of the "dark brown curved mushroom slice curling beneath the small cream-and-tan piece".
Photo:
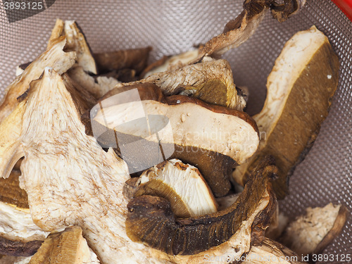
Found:
[[(158, 196), (134, 198), (128, 203), (127, 235), (132, 241), (143, 242), (169, 255), (194, 255), (203, 251), (203, 258), (207, 251), (217, 251), (218, 246), (226, 246), (223, 243), (239, 239), (237, 243), (241, 246), (236, 253), (241, 256), (249, 251), (249, 244), (263, 239), (276, 208), (270, 184), (275, 172), (272, 160), (263, 161), (232, 206), (197, 218), (175, 218), (168, 200)], [(241, 232), (246, 235), (239, 238)]]

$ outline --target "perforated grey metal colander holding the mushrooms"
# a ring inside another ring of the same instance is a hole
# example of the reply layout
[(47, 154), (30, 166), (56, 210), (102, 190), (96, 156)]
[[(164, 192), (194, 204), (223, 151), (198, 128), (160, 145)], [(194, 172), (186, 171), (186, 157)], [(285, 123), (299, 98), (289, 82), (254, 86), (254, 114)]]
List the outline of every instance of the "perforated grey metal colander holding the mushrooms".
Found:
[[(57, 0), (46, 11), (14, 23), (8, 22), (0, 2), (1, 96), (15, 77), (16, 66), (44, 51), (56, 18), (76, 20), (94, 52), (153, 46), (154, 61), (164, 54), (187, 51), (222, 32), (225, 23), (242, 10), (242, 2)], [(232, 65), (234, 82), (249, 87), (249, 114), (258, 113), (265, 100), (266, 78), (284, 43), (311, 25), (327, 35), (339, 56), (340, 79), (319, 137), (291, 177), (291, 194), (280, 203), (289, 218), (304, 213), (308, 206), (329, 202), (343, 203), (352, 212), (352, 23), (332, 1), (307, 0), (303, 11), (287, 22), (278, 23), (268, 13), (248, 42), (225, 54)], [(351, 224), (350, 218), (324, 253), (352, 254)]]

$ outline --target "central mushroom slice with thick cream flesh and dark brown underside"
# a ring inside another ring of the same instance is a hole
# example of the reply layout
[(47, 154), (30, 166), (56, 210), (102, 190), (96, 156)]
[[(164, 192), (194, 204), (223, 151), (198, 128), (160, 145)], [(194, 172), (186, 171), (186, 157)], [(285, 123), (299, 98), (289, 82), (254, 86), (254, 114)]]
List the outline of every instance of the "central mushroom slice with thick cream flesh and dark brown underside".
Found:
[[(147, 84), (136, 84), (142, 85)], [(129, 164), (130, 173), (178, 158), (201, 171), (215, 196), (227, 194), (234, 166), (256, 151), (255, 122), (244, 112), (212, 106), (194, 97), (170, 96), (165, 103), (156, 92), (158, 87), (148, 85), (106, 96), (94, 106), (94, 137), (104, 147), (119, 148), (117, 152)], [(145, 88), (149, 91), (141, 92)], [(151, 96), (148, 99), (144, 94)]]

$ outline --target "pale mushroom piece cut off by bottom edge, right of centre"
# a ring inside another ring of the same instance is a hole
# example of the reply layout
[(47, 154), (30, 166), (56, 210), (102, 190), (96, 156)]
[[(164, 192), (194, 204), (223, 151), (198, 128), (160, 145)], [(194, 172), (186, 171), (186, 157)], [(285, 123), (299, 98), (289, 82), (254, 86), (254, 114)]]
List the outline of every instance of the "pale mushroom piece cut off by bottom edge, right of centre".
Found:
[(252, 246), (241, 264), (301, 264), (301, 256), (276, 241), (265, 238), (260, 245)]

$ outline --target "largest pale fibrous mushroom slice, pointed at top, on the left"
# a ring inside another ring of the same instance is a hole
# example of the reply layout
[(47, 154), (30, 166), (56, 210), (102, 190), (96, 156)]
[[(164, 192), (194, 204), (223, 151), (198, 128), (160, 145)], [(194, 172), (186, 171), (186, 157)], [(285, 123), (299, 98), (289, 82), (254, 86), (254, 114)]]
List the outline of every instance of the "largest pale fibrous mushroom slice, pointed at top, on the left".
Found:
[[(169, 256), (127, 237), (127, 200), (122, 195), (130, 178), (127, 165), (85, 134), (62, 77), (46, 68), (22, 103), (20, 144), (25, 158), (20, 186), (27, 192), (32, 219), (42, 230), (82, 227), (101, 263), (199, 263), (204, 253), (221, 256), (236, 253), (238, 247), (239, 254), (249, 251), (250, 222), (268, 206), (269, 194), (229, 241), (196, 256)], [(239, 237), (246, 237), (246, 243)]]

